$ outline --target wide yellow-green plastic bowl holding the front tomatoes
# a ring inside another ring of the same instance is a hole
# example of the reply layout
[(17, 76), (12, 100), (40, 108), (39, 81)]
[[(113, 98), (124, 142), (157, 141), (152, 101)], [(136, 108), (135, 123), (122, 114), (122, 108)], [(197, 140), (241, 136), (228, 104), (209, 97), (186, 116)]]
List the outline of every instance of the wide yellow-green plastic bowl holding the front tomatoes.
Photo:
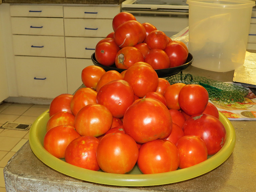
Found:
[(222, 149), (213, 156), (209, 156), (208, 159), (202, 163), (166, 173), (142, 174), (139, 168), (134, 166), (133, 170), (128, 174), (111, 174), (80, 168), (52, 156), (43, 147), (46, 123), (49, 119), (48, 110), (42, 113), (32, 124), (29, 133), (29, 143), (34, 154), (44, 162), (44, 164), (58, 172), (80, 180), (115, 186), (154, 186), (170, 184), (205, 174), (220, 166), (220, 164), (232, 154), (236, 142), (236, 133), (228, 118), (220, 112), (219, 114), (220, 121), (224, 124), (227, 134), (226, 142)]

